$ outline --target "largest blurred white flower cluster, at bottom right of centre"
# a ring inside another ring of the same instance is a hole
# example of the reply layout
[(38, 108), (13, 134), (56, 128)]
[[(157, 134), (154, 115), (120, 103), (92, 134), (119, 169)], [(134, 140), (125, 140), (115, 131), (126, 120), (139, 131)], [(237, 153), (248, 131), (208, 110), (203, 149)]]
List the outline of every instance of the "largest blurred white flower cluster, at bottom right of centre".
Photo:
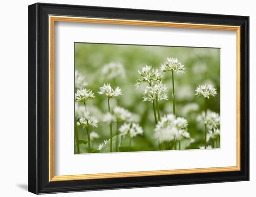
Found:
[(188, 121), (174, 114), (164, 115), (155, 127), (155, 138), (159, 143), (164, 141), (181, 140), (189, 138)]

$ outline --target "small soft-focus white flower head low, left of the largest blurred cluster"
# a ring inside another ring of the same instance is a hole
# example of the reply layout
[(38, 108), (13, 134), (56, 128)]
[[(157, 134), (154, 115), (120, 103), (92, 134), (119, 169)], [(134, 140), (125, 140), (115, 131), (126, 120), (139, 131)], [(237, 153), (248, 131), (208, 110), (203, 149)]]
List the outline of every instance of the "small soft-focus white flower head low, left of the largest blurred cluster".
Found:
[(119, 131), (121, 134), (126, 135), (129, 134), (131, 138), (142, 135), (143, 129), (136, 123), (124, 123), (120, 128)]

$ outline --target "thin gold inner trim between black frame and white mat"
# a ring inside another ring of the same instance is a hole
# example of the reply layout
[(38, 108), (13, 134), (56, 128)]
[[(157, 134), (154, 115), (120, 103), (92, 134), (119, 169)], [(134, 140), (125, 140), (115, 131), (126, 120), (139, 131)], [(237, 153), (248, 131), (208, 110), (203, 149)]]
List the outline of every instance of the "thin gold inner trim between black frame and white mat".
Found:
[[(159, 170), (141, 172), (118, 172), (100, 174), (81, 174), (81, 175), (54, 175), (54, 23), (58, 22), (79, 22), (96, 24), (115, 24), (115, 25), (140, 25), (140, 26), (159, 26), (188, 29), (209, 29), (209, 30), (229, 30), (236, 31), (236, 166), (212, 167), (178, 170)], [(100, 178), (125, 178), (125, 177), (145, 177), (158, 175), (208, 173), (208, 172), (231, 172), (240, 171), (240, 26), (229, 25), (207, 25), (191, 23), (172, 23), (143, 20), (124, 20), (124, 19), (100, 19), (83, 18), (69, 16), (49, 15), (49, 181), (70, 181)]]

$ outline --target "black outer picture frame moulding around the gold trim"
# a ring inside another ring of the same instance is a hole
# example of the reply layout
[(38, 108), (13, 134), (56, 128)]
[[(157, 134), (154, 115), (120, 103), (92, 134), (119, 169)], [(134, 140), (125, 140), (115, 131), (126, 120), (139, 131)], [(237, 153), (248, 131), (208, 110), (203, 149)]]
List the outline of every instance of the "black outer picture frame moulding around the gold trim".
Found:
[[(241, 27), (241, 170), (49, 182), (48, 15)], [(249, 180), (249, 17), (35, 3), (28, 6), (28, 191), (35, 194)]]

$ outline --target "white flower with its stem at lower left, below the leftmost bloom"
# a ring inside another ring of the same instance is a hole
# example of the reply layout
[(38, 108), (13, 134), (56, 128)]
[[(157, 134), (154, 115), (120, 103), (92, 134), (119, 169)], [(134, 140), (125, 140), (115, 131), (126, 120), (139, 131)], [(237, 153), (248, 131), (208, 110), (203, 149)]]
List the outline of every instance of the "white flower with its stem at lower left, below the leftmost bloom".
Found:
[(88, 153), (91, 152), (91, 138), (89, 126), (97, 127), (97, 123), (98, 120), (94, 116), (90, 116), (88, 112), (86, 112), (85, 116), (81, 117), (76, 123), (77, 126), (82, 126), (87, 131)]

